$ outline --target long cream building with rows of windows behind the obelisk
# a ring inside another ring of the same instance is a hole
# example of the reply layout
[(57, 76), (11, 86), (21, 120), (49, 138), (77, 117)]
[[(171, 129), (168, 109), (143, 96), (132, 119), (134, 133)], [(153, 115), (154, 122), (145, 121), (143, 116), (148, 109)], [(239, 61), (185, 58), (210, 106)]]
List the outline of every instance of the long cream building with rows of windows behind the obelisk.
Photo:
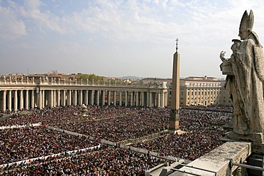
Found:
[[(168, 83), (168, 106), (171, 105), (171, 78), (144, 78), (143, 83)], [(228, 93), (225, 92), (225, 81), (214, 77), (190, 76), (180, 80), (180, 103), (181, 106), (188, 105), (232, 105)]]

